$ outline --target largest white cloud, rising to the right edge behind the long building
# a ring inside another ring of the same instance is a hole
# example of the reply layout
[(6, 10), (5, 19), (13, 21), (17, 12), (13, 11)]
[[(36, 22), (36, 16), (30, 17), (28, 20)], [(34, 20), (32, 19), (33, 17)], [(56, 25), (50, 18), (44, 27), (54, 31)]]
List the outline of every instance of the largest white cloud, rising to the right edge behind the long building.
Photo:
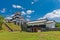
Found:
[(51, 20), (55, 20), (55, 21), (59, 20), (60, 9), (53, 10), (52, 12), (47, 13), (45, 16), (38, 18), (38, 20), (46, 19), (46, 18), (49, 20), (51, 19)]

